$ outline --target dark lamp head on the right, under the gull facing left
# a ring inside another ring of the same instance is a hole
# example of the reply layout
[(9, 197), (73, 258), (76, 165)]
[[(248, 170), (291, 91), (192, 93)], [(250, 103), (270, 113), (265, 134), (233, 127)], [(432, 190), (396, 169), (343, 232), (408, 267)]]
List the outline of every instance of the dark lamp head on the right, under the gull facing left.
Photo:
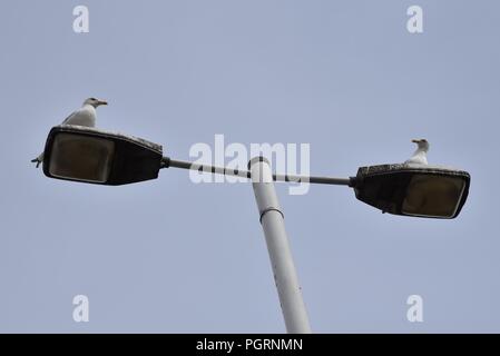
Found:
[(357, 199), (382, 212), (452, 219), (465, 204), (470, 175), (442, 166), (379, 165), (359, 168), (352, 186)]

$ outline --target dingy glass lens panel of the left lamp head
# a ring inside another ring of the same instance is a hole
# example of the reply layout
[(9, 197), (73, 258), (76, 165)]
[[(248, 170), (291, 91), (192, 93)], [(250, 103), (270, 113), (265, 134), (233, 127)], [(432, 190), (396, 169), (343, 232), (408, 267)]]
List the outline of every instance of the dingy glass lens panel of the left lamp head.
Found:
[(106, 182), (114, 154), (112, 140), (59, 134), (53, 140), (49, 172), (59, 178)]

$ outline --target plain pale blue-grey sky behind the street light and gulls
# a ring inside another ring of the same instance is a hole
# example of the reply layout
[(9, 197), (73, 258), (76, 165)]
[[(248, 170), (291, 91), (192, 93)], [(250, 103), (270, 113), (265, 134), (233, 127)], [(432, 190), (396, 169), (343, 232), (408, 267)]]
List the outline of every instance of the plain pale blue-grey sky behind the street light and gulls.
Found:
[[(75, 33), (86, 4), (89, 33)], [(406, 9), (423, 9), (423, 33)], [(105, 187), (30, 159), (85, 98), (98, 127), (189, 158), (197, 142), (310, 144), (316, 175), (429, 161), (471, 174), (457, 219), (382, 215), (345, 187), (278, 185), (317, 333), (500, 332), (498, 1), (3, 1), (0, 332), (281, 333), (249, 184), (183, 170)], [(72, 298), (89, 298), (89, 322)], [(409, 323), (406, 298), (423, 298)]]

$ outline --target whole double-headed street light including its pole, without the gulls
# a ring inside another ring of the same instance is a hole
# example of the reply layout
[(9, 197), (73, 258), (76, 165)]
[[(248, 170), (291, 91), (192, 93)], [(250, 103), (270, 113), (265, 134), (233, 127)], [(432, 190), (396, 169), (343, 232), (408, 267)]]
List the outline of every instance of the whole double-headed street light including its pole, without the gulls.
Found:
[(156, 179), (160, 169), (169, 167), (252, 179), (290, 333), (310, 333), (311, 328), (273, 181), (347, 186), (359, 200), (382, 212), (443, 219), (460, 214), (470, 186), (467, 171), (414, 164), (361, 167), (350, 178), (272, 174), (263, 157), (253, 158), (248, 170), (197, 165), (164, 157), (160, 145), (140, 138), (70, 125), (50, 130), (43, 156), (47, 177), (109, 186)]

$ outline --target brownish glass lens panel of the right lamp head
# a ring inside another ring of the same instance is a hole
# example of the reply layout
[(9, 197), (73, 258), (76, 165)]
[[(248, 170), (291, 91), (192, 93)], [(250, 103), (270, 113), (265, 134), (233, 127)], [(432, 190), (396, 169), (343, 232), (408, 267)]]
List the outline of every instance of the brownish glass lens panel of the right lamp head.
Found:
[(453, 217), (465, 182), (460, 177), (415, 175), (403, 200), (402, 212), (415, 216)]

